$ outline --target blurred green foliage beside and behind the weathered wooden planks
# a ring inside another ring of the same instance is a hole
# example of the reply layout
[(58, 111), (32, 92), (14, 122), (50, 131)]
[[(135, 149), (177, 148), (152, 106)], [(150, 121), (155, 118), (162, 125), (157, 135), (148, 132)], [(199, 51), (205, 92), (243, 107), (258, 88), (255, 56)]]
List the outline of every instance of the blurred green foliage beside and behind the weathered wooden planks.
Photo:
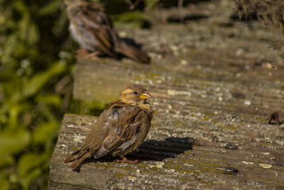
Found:
[[(116, 24), (140, 27), (158, 0), (131, 12), (124, 0), (102, 2)], [(62, 115), (105, 106), (71, 101), (77, 45), (67, 25), (60, 0), (0, 0), (0, 189), (46, 189)]]

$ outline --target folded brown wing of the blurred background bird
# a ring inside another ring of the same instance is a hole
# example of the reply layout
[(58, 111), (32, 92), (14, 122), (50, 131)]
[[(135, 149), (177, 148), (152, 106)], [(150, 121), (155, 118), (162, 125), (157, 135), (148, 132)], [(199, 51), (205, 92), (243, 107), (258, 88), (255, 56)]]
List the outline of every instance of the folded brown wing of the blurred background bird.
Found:
[(82, 6), (82, 11), (78, 18), (81, 24), (97, 39), (97, 45), (108, 56), (116, 56), (114, 54), (114, 37), (116, 32), (112, 26), (111, 19), (104, 12), (104, 8), (100, 4), (89, 3)]

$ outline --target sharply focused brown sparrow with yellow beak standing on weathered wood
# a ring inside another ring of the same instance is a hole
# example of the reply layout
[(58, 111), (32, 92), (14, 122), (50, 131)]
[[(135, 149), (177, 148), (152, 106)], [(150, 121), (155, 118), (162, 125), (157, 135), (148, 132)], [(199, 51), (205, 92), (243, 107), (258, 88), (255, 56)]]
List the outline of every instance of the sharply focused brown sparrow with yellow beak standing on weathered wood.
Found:
[(116, 162), (138, 163), (124, 157), (137, 149), (150, 130), (153, 110), (146, 100), (151, 97), (140, 85), (132, 85), (120, 93), (120, 99), (112, 102), (99, 115), (82, 144), (82, 147), (65, 164), (77, 169), (87, 157), (98, 159), (107, 154), (121, 159)]

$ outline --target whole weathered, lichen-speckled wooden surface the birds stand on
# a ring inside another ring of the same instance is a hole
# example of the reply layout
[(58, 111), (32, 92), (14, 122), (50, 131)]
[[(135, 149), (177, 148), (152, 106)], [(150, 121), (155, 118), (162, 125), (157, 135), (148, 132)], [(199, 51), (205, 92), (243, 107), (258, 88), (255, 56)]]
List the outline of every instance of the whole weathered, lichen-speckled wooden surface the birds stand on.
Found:
[[(111, 102), (126, 85), (144, 85), (153, 95), (153, 125), (130, 155), (140, 164), (90, 159), (76, 172), (63, 160), (80, 147), (95, 117), (65, 115), (50, 189), (283, 189), (284, 128), (266, 120), (275, 110), (284, 112), (284, 64), (268, 48), (279, 37), (256, 21), (230, 20), (233, 6), (196, 4), (185, 13), (203, 19), (156, 22), (133, 33), (150, 52), (151, 65), (78, 60), (75, 98)], [(153, 20), (163, 21), (172, 11), (158, 11)], [(225, 149), (226, 143), (238, 149)], [(239, 171), (229, 174), (226, 167)]]

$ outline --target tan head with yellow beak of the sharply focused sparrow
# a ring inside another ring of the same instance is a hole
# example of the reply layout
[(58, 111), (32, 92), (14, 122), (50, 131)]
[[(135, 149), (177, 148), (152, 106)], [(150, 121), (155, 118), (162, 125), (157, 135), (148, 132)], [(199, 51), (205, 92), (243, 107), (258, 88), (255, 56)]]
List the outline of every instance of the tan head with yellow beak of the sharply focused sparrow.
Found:
[(140, 85), (131, 85), (120, 93), (120, 99), (131, 105), (143, 104), (151, 95)]

